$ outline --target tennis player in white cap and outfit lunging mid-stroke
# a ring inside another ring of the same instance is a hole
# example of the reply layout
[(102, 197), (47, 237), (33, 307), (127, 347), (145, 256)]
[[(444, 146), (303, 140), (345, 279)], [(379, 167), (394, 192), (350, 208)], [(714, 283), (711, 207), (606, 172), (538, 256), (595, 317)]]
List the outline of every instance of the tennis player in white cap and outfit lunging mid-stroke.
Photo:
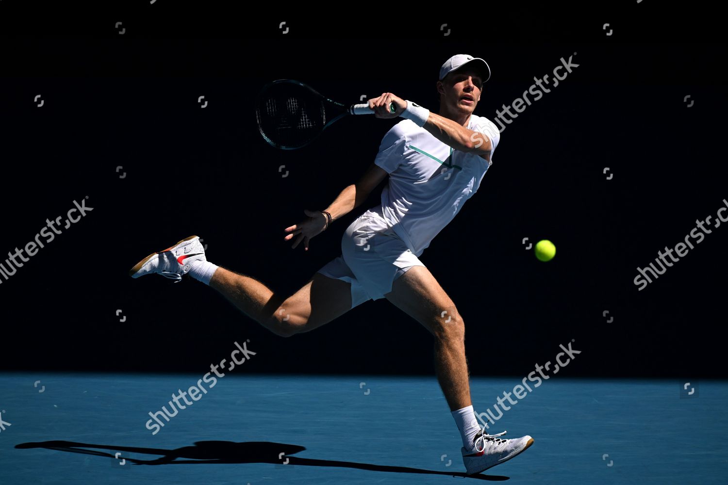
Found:
[[(387, 298), (435, 337), (438, 382), (462, 436), (467, 473), (510, 460), (534, 440), (499, 438), (505, 431), (489, 435), (478, 425), (470, 401), (463, 318), (419, 260), (478, 191), (492, 164), (499, 131), (490, 120), (472, 114), (490, 76), (485, 60), (454, 55), (440, 68), (438, 113), (389, 92), (368, 100), (377, 118), (404, 119), (384, 135), (376, 159), (357, 183), (344, 188), (325, 210), (304, 210), (306, 219), (285, 228), (283, 239), (295, 237), (292, 247), (303, 242), (307, 251), (314, 236), (358, 207), (388, 176), (381, 204), (349, 225), (341, 254), (289, 297), (207, 261), (197, 236), (149, 255), (130, 275), (159, 273), (180, 281), (189, 273), (282, 337), (310, 332), (365, 301)], [(389, 103), (396, 105), (395, 113), (389, 112)]]

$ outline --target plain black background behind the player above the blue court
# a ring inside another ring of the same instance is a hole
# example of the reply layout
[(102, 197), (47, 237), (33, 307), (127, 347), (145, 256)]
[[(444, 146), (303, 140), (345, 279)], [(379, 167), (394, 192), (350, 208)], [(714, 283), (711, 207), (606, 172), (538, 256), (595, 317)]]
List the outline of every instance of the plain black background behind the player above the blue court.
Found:
[[(436, 110), (440, 65), (466, 53), (493, 71), (475, 111), (491, 120), (561, 57), (579, 64), (502, 132), (478, 194), (422, 254), (464, 316), (471, 374), (526, 375), (573, 339), (582, 353), (566, 375), (725, 377), (728, 229), (646, 289), (633, 284), (728, 199), (721, 26), (653, 3), (481, 6), (455, 21), (161, 0), (36, 18), (3, 5), (0, 253), (65, 219), (74, 200), (88, 196), (93, 211), (0, 284), (0, 369), (200, 372), (250, 339), (258, 358), (246, 372), (433, 374), (430, 334), (387, 300), (283, 339), (196, 281), (127, 270), (197, 234), (209, 260), (293, 293), (339, 254), (381, 187), (307, 253), (283, 228), (355, 183), (396, 121), (346, 119), (276, 151), (257, 132), (256, 92), (290, 78), (343, 103), (388, 91)], [(525, 237), (553, 241), (555, 259), (536, 260)]]

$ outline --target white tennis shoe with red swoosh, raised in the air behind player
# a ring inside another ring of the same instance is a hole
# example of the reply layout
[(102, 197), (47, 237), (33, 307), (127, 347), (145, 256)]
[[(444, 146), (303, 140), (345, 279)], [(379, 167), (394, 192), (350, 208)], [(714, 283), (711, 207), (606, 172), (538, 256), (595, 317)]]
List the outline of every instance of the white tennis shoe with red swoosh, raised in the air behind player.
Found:
[(182, 281), (183, 275), (189, 273), (195, 261), (207, 261), (205, 248), (200, 244), (199, 237), (189, 236), (163, 251), (149, 254), (129, 270), (129, 276), (138, 278), (157, 273), (178, 283)]

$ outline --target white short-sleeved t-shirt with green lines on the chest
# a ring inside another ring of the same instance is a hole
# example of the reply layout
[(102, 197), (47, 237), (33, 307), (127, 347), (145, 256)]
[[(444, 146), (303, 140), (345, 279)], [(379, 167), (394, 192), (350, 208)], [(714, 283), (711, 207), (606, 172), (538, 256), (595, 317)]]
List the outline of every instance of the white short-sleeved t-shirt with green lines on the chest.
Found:
[[(467, 128), (491, 139), (492, 164), (500, 140), (496, 125), (471, 115)], [(381, 207), (372, 210), (416, 256), (478, 191), (490, 166), (483, 157), (454, 150), (408, 119), (384, 135), (374, 163), (387, 171), (389, 183), (381, 192)]]

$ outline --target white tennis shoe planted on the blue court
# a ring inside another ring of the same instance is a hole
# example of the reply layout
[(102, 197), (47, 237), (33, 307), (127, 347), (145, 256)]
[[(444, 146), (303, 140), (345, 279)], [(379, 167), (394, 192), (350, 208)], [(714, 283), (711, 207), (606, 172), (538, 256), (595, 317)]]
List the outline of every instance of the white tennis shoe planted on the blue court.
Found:
[(520, 454), (526, 448), (534, 444), (534, 438), (523, 436), (522, 438), (502, 439), (498, 436), (505, 435), (505, 431), (495, 435), (486, 434), (485, 428), (475, 435), (471, 449), (461, 449), (462, 460), (468, 475), (480, 473), (483, 470), (500, 465), (515, 455)]

